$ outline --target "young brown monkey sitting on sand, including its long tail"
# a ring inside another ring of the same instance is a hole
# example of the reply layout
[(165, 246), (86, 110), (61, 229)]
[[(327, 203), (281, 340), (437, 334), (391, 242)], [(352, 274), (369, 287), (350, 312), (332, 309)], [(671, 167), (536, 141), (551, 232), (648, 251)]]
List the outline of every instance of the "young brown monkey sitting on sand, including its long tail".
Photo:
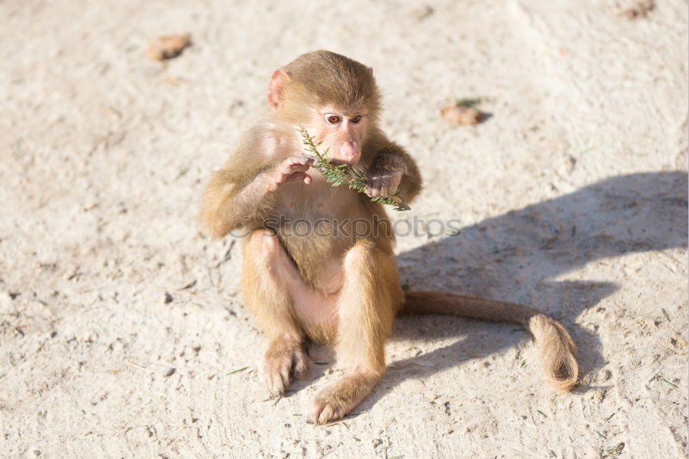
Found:
[[(242, 287), (269, 339), (263, 377), (272, 394), (284, 394), (292, 376), (307, 375), (307, 338), (333, 345), (346, 370), (313, 400), (309, 420), (342, 418), (380, 380), (384, 342), (400, 313), (524, 325), (540, 348), (548, 382), (562, 390), (575, 385), (573, 341), (536, 309), (402, 291), (389, 220), (370, 198), (399, 191), (409, 203), (422, 181), (411, 156), (378, 128), (381, 96), (371, 68), (333, 52), (309, 52), (273, 73), (267, 101), (269, 110), (212, 177), (200, 218), (216, 237), (240, 225), (251, 231), (244, 239)], [(332, 187), (311, 167), (313, 159), (302, 154), (301, 125), (329, 149), (333, 163), (367, 168), (365, 194)], [(297, 219), (312, 225), (307, 234), (291, 224)], [(357, 219), (370, 223), (367, 235), (353, 227)]]

